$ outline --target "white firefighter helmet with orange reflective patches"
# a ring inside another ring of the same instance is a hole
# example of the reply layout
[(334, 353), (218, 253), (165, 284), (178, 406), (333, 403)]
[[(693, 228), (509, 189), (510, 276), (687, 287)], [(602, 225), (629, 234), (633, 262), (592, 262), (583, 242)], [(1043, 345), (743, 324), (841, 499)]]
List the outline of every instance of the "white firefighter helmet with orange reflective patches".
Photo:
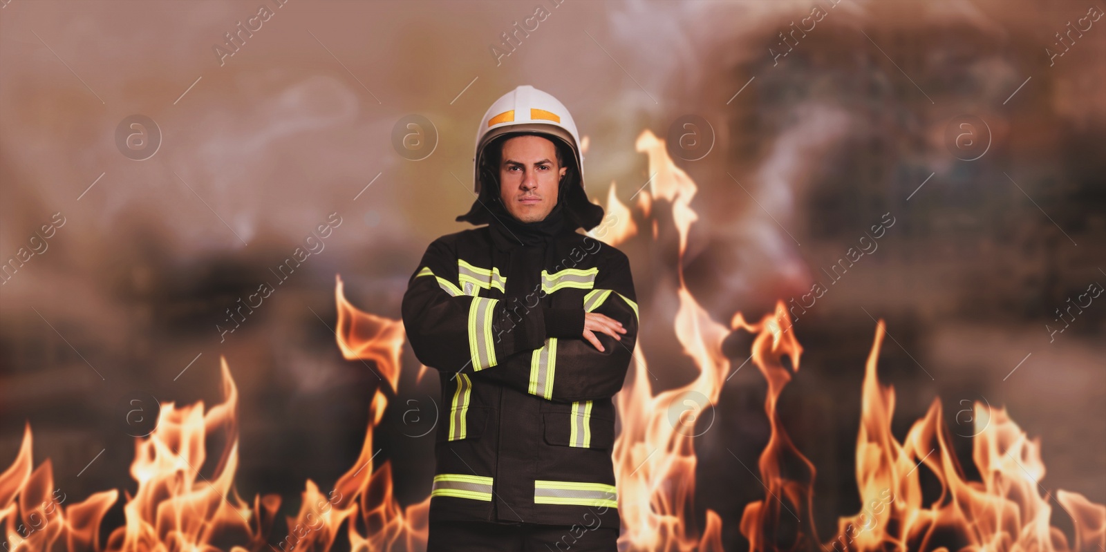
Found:
[(500, 96), (480, 119), (476, 155), (472, 158), (473, 189), (478, 195), (484, 146), (499, 136), (520, 132), (545, 134), (567, 145), (576, 162), (580, 186), (584, 186), (584, 156), (580, 152), (580, 134), (576, 132), (576, 123), (572, 121), (572, 115), (557, 98), (524, 84)]

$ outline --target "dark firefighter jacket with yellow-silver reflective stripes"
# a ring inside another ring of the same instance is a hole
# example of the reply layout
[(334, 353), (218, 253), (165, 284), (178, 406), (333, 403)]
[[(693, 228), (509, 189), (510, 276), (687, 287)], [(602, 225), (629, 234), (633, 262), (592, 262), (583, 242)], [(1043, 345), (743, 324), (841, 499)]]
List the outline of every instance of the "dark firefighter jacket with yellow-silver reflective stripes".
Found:
[[(636, 301), (626, 256), (575, 231), (540, 248), (487, 226), (430, 243), (403, 321), (441, 381), (431, 520), (619, 528), (612, 396), (637, 341)], [(595, 332), (601, 352), (581, 335), (585, 311), (626, 333)]]

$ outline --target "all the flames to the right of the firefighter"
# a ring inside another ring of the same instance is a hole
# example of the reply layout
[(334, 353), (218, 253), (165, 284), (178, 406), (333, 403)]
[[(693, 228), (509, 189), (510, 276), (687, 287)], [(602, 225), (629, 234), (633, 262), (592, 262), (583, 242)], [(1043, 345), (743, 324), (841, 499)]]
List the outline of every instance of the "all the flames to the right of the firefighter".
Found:
[[(625, 522), (619, 548), (721, 550), (721, 520), (713, 511), (707, 511), (701, 535), (692, 529), (692, 439), (664, 418), (666, 412), (691, 394), (702, 397), (702, 404), (693, 404), (696, 414), (717, 402), (724, 383), (722, 376), (730, 368), (721, 354), (728, 332), (711, 321), (684, 283), (688, 232), (698, 219), (690, 208), (696, 185), (674, 165), (664, 142), (648, 131), (638, 137), (637, 148), (648, 154), (649, 173), (654, 175), (649, 191), (641, 194), (640, 206), (648, 211), (658, 199), (667, 200), (679, 235), (679, 310), (674, 329), (684, 352), (699, 368), (699, 376), (686, 386), (654, 396), (646, 362), (643, 355), (635, 355), (633, 379), (616, 397), (622, 433), (614, 456), (619, 511)], [(656, 239), (656, 218), (653, 225)], [(895, 439), (890, 431), (894, 389), (880, 386), (876, 376), (884, 335), (881, 321), (866, 365), (857, 436), (856, 478), (864, 509), (842, 518), (835, 539), (821, 543), (813, 524), (816, 470), (791, 441), (778, 412), (780, 394), (797, 373), (802, 354), (795, 333), (782, 331), (791, 327), (789, 313), (781, 301), (773, 315), (753, 324), (738, 313), (730, 326), (755, 335), (750, 358), (769, 384), (764, 409), (771, 438), (759, 461), (765, 499), (747, 504), (740, 524), (750, 550), (808, 550), (814, 543), (827, 551), (831, 546), (949, 550), (948, 545), (971, 551), (1106, 550), (1106, 507), (1082, 494), (1061, 490), (1055, 497), (1075, 523), (1074, 548), (1068, 546), (1062, 531), (1051, 525), (1052, 496), (1040, 485), (1044, 477), (1040, 442), (1027, 439), (1005, 409), (974, 405), (980, 427), (973, 441), (973, 459), (983, 475), (982, 482), (966, 481), (941, 424), (939, 399), (914, 425), (905, 445)], [(784, 357), (790, 361), (790, 369)], [(928, 508), (922, 506), (921, 469), (936, 475), (942, 487), (940, 498)]]

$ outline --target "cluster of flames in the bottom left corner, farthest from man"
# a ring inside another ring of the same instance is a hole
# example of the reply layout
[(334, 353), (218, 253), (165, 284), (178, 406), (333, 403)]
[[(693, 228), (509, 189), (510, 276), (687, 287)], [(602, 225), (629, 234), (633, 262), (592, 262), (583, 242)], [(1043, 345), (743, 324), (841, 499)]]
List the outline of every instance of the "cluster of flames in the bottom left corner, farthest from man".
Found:
[[(112, 531), (106, 550), (217, 550), (223, 540), (253, 550), (265, 543), (280, 498), (255, 497), (251, 507), (234, 491), (238, 389), (226, 361), (222, 383), (225, 403), (206, 413), (202, 402), (179, 408), (167, 403), (154, 433), (136, 440), (131, 476), (138, 488), (134, 497), (127, 493), (123, 507), (126, 523)], [(220, 430), (230, 437), (229, 445), (208, 478), (200, 472), (207, 461), (205, 437)], [(50, 460), (31, 472), (31, 442), (28, 427), (15, 462), (0, 476), (0, 514), (6, 521), (9, 549), (33, 551), (63, 545), (70, 550), (100, 550), (100, 524), (118, 499), (118, 491), (98, 492), (63, 506), (65, 493), (54, 490)]]

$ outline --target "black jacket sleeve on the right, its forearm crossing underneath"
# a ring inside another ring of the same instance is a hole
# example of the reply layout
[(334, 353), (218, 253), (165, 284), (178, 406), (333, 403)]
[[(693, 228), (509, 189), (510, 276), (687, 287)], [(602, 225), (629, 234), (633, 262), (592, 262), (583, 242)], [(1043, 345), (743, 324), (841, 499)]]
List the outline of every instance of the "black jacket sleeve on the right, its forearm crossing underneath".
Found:
[(622, 322), (626, 333), (618, 341), (595, 332), (603, 351), (584, 340), (583, 329), (575, 337), (547, 336), (533, 351), (519, 352), (500, 369), (476, 377), (560, 403), (613, 397), (626, 379), (639, 322), (634, 279), (625, 254), (619, 252), (599, 269), (595, 287), (584, 296), (583, 310)]

